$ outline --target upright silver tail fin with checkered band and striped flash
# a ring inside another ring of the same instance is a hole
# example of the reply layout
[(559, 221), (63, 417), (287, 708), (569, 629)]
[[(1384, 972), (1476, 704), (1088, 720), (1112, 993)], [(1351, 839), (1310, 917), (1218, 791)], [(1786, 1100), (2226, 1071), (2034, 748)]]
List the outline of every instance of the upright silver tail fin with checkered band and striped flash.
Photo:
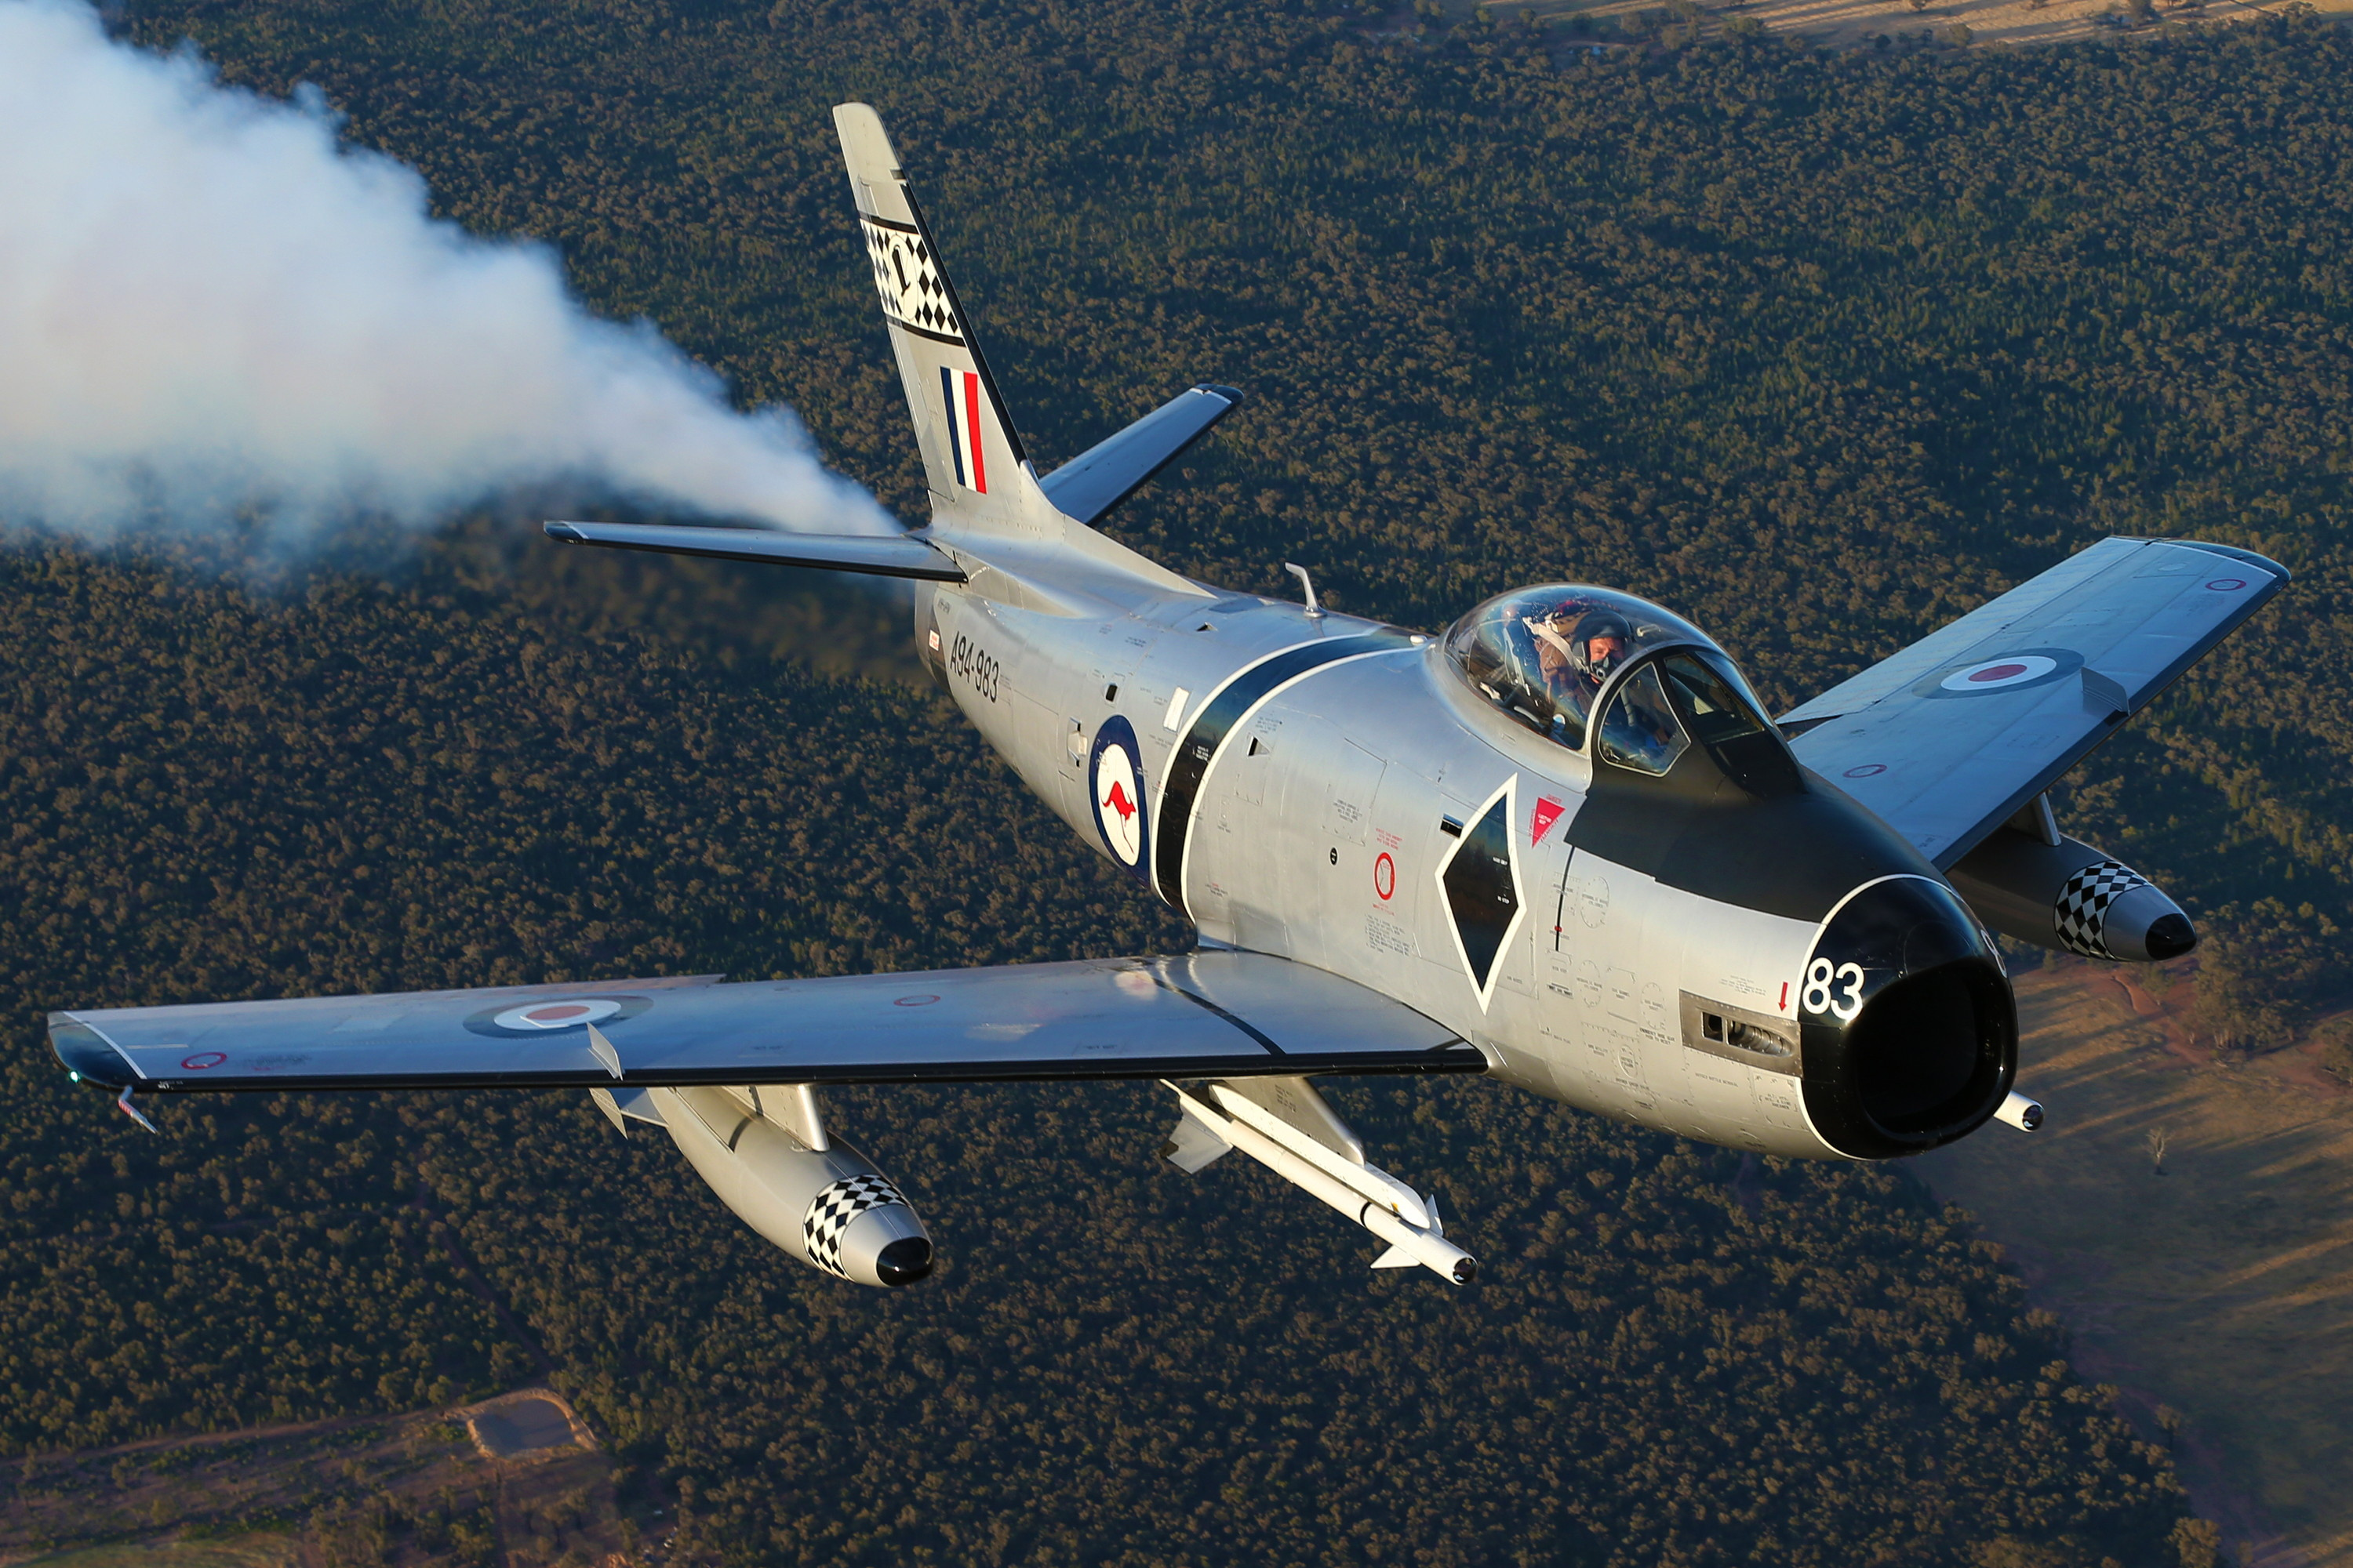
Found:
[[(849, 167), (866, 259), (882, 294), (892, 357), (915, 421), (932, 529), (948, 543), (1040, 541), (1094, 567), (1146, 578), (1155, 588), (1202, 592), (1195, 583), (1104, 538), (1068, 517), (1038, 484), (1021, 435), (1005, 411), (988, 360), (972, 339), (972, 317), (939, 261), (939, 244), (906, 188), (882, 120), (866, 103), (840, 103), (833, 129)], [(1207, 423), (1202, 423), (1207, 428)], [(1165, 461), (1165, 458), (1162, 458)], [(1139, 480), (1141, 482), (1141, 480)]]

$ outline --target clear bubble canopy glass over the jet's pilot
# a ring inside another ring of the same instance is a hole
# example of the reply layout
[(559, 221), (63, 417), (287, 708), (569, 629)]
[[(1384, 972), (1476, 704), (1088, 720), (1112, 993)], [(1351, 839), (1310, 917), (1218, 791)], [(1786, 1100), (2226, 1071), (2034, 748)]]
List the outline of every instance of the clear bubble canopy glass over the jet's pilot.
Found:
[(1755, 698), (1732, 661), (1689, 621), (1607, 588), (1548, 583), (1487, 599), (1447, 630), (1447, 658), (1504, 715), (1567, 748), (1584, 748), (1595, 701), (1652, 649), (1713, 654), (1715, 670)]

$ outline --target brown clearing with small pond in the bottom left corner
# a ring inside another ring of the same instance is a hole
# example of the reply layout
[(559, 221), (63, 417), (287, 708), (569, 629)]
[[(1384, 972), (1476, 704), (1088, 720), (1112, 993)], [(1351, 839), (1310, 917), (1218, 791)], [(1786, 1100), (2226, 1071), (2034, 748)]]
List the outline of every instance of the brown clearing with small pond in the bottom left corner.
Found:
[(642, 1561), (647, 1547), (659, 1556), (671, 1528), (661, 1500), (579, 1434), (551, 1396), (504, 1396), (454, 1415), (14, 1460), (0, 1472), (0, 1566), (586, 1568)]

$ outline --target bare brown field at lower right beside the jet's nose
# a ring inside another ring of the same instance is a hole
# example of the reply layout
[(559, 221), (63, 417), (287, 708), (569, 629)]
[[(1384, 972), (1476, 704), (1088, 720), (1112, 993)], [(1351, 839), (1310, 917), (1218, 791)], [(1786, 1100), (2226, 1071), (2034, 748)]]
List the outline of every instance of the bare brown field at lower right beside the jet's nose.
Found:
[(2205, 1058), (2113, 969), (2026, 976), (2019, 1009), (2019, 1079), (2049, 1121), (1920, 1173), (2073, 1326), (2075, 1366), (2174, 1443), (2238, 1561), (2353, 1563), (2353, 1095), (2301, 1053)]

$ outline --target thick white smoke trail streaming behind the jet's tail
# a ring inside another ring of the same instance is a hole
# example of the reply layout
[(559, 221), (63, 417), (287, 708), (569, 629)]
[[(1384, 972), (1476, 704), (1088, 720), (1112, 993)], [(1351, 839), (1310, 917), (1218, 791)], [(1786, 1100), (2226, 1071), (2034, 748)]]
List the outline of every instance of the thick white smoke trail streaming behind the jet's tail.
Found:
[(736, 414), (649, 324), (588, 315), (553, 252), (431, 219), (318, 94), (224, 87), (80, 0), (0, 0), (0, 520), (301, 536), (541, 482), (896, 529), (788, 409)]

